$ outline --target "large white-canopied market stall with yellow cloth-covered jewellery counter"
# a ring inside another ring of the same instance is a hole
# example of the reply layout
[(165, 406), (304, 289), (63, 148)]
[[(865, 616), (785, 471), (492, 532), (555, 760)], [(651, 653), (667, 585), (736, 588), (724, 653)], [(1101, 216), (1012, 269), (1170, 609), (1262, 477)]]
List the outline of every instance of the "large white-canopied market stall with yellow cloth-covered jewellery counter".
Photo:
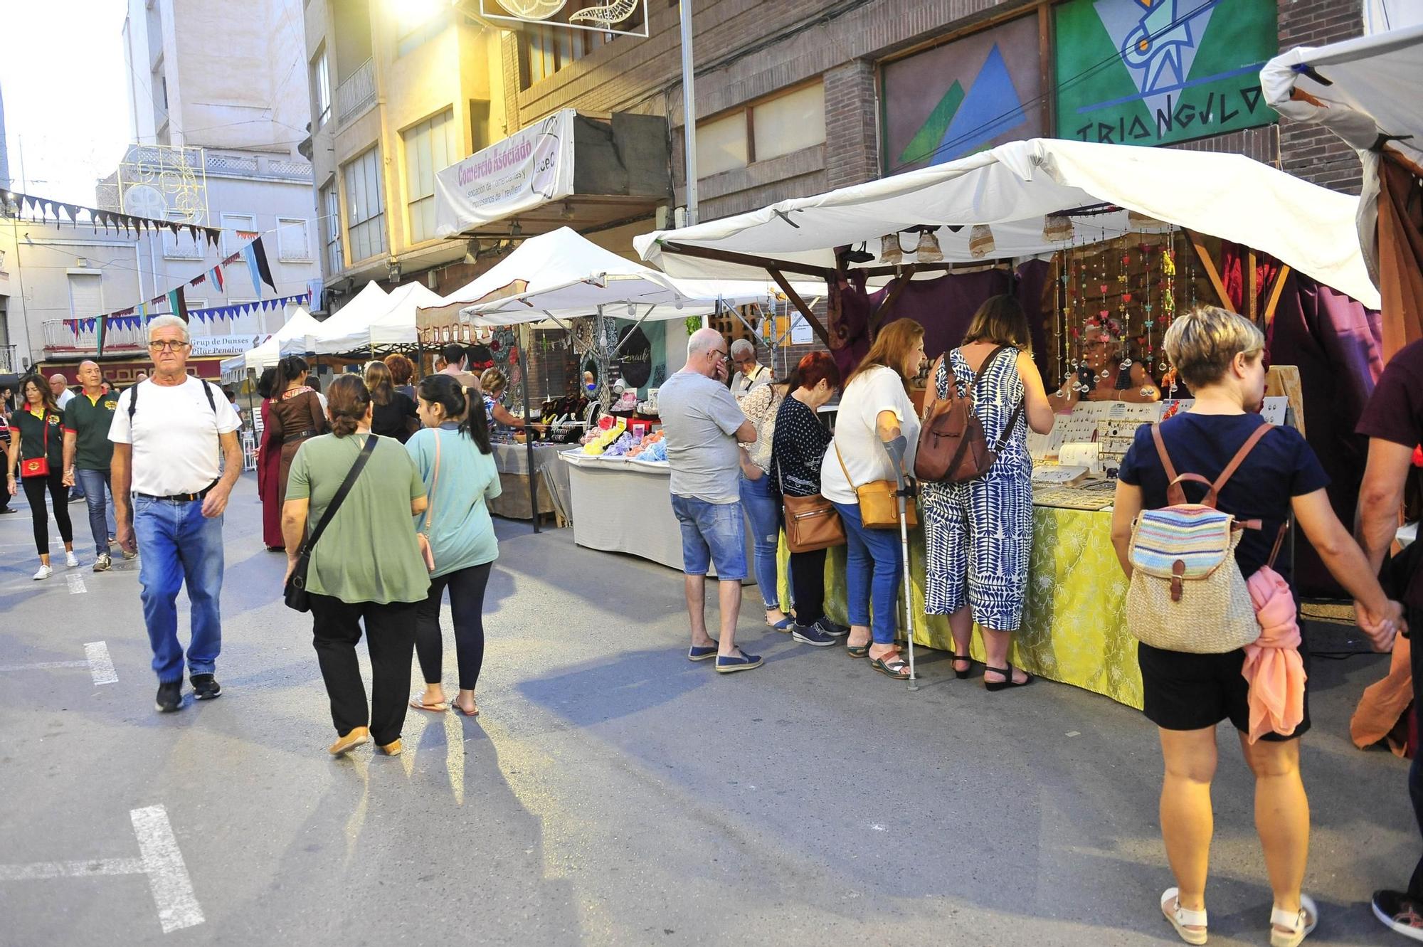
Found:
[[(1035, 139), (645, 235), (636, 246), (676, 277), (824, 279), (832, 289), (817, 333), (842, 370), (895, 319), (919, 319), (936, 355), (959, 343), (979, 303), (1016, 294), (1049, 391), (1077, 404), (1030, 445), (1035, 535), (1012, 660), (1140, 707), (1109, 509), (1136, 428), (1178, 410), (1158, 397), (1187, 394), (1164, 363), (1161, 337), (1197, 303), (1268, 324), (1286, 306), (1298, 309), (1291, 294), (1305, 283), (1340, 290), (1366, 324), (1363, 306), (1376, 307), (1379, 294), (1353, 237), (1356, 209), (1355, 198), (1239, 155)], [(874, 280), (888, 282), (872, 291)], [(801, 310), (818, 324), (808, 306)], [(1093, 333), (1120, 350), (1120, 373), (1089, 357)], [(1106, 384), (1126, 378), (1133, 381)], [(1286, 404), (1274, 402), (1276, 421)], [(911, 631), (946, 648), (946, 619), (922, 607), (921, 529), (911, 533)], [(844, 589), (842, 555), (828, 557), (827, 587)], [(842, 610), (844, 593), (827, 601)]]

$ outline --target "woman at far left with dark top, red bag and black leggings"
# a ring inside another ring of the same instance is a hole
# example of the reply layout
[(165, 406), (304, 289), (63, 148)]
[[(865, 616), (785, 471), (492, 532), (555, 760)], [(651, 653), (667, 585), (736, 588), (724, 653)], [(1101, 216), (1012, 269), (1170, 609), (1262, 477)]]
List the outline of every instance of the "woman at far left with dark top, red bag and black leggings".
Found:
[[(54, 394), (50, 385), (40, 375), (27, 375), (20, 381), (20, 394), (24, 404), (10, 415), (10, 442), (6, 445), (7, 476), (6, 491), (10, 496), (20, 492), (24, 485), (24, 496), (30, 501), (30, 519), (34, 522), (34, 547), (40, 552), (40, 570), (36, 579), (48, 579), (54, 574), (50, 567), (50, 518), (44, 512), (44, 491), (50, 491), (50, 502), (54, 505), (54, 522), (60, 526), (60, 539), (64, 540), (64, 565), (74, 567), (80, 560), (74, 557), (74, 525), (70, 522), (70, 488), (64, 486), (64, 428), (60, 407), (54, 404)], [(26, 472), (28, 461), (47, 461), (38, 465), (38, 471)]]

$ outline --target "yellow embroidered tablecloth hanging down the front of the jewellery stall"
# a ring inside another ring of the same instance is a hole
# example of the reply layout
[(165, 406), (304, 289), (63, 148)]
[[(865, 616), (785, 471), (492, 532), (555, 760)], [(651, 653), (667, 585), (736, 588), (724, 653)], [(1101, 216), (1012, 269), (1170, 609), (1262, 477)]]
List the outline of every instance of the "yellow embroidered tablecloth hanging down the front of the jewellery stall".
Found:
[[(946, 616), (924, 613), (924, 529), (909, 530), (914, 640), (949, 651)], [(788, 553), (781, 537), (780, 597), (790, 606)], [(1127, 579), (1111, 549), (1111, 513), (1033, 508), (1027, 603), (1009, 660), (1026, 671), (1141, 708), (1137, 640), (1127, 631)], [(901, 583), (902, 584), (902, 583)], [(845, 623), (845, 549), (825, 557), (825, 611)], [(901, 631), (904, 603), (898, 603)], [(983, 660), (973, 636), (973, 657)]]

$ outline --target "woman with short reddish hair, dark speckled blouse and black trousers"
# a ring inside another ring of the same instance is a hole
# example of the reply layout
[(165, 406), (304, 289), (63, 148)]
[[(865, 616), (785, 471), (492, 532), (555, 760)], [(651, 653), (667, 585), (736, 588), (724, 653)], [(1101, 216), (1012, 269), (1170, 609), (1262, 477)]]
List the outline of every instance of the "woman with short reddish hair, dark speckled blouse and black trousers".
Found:
[[(840, 368), (825, 351), (813, 351), (795, 367), (795, 387), (781, 402), (771, 437), (771, 489), (783, 496), (820, 493), (820, 462), (831, 434), (815, 411), (840, 388)], [(795, 627), (804, 644), (831, 644), (848, 628), (825, 617), (825, 550), (791, 553)]]

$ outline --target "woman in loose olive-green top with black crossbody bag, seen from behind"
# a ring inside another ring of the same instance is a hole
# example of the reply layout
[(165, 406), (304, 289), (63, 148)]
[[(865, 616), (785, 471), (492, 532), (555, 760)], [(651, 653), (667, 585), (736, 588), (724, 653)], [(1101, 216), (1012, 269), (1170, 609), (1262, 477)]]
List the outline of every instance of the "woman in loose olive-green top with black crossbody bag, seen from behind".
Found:
[[(322, 522), (366, 439), (377, 438), (366, 468), (312, 549), (306, 589), (316, 658), (336, 724), (330, 754), (339, 756), (374, 738), (394, 756), (406, 722), (416, 604), (430, 590), (434, 566), (430, 546), (410, 525), (410, 516), (425, 509), (425, 485), (400, 441), (370, 432), (370, 391), (360, 377), (333, 381), (326, 407), (332, 434), (307, 438), (292, 458), (282, 503), (286, 573), (292, 574), (307, 528)], [(356, 663), (361, 623), (371, 665), (369, 711)]]

